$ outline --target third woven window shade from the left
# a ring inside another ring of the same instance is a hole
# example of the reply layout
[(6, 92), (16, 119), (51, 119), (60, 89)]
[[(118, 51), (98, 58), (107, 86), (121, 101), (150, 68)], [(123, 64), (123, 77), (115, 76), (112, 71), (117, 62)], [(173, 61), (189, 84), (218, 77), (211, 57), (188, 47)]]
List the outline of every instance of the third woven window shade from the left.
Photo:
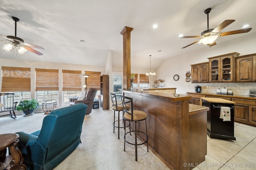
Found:
[(82, 91), (82, 70), (62, 70), (62, 91)]

